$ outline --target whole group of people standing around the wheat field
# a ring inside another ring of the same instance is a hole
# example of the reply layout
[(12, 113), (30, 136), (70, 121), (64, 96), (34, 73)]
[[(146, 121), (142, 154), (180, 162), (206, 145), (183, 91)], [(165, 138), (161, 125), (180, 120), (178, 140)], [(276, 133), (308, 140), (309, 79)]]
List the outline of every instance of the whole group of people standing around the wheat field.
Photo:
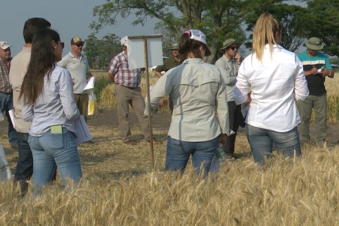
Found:
[[(79, 183), (82, 176), (74, 121), (87, 115), (88, 94), (83, 88), (92, 74), (81, 54), (81, 38), (71, 39), (72, 50), (62, 58), (64, 43), (50, 26), (42, 18), (25, 21), (25, 45), (13, 59), (10, 45), (0, 42), (0, 106), (6, 114), (14, 108), (16, 132), (10, 121), (8, 131), (11, 145), (19, 149), (14, 182), (23, 194), (32, 174), (37, 188), (53, 181), (56, 169), (65, 187), (66, 178)], [(333, 78), (333, 70), (327, 56), (318, 52), (323, 48), (320, 39), (309, 39), (307, 51), (296, 56), (279, 45), (282, 29), (276, 17), (262, 14), (254, 27), (252, 53), (242, 61), (237, 52), (242, 43), (227, 39), (215, 65), (203, 61), (211, 54), (203, 32), (191, 29), (181, 35), (179, 44), (171, 48), (171, 58), (156, 68), (159, 79), (150, 94), (153, 112), (163, 96), (170, 96), (165, 170), (184, 170), (192, 156), (196, 172), (203, 169), (207, 175), (219, 143), (227, 159), (236, 158), (239, 126), (245, 127), (259, 165), (265, 164), (273, 144), (285, 157), (300, 156), (300, 140), (309, 142), (312, 107), (317, 142), (325, 142), (324, 82), (326, 76)], [(145, 141), (150, 141), (150, 112), (139, 87), (144, 69), (129, 68), (127, 37), (121, 39), (121, 46), (123, 51), (113, 57), (108, 76), (114, 83), (121, 138), (135, 145), (129, 105), (138, 116)]]

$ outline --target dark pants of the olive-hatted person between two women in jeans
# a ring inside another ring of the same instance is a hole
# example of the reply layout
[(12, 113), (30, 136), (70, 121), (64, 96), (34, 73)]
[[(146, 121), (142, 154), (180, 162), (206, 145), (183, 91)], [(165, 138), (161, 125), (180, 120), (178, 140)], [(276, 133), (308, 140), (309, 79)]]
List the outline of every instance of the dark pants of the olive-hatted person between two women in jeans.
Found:
[(228, 104), (228, 114), (229, 114), (229, 129), (233, 130), (235, 133), (231, 136), (227, 136), (223, 150), (225, 154), (234, 154), (234, 145), (236, 143), (236, 132), (239, 128), (239, 122), (241, 117), (241, 105), (236, 105), (234, 101), (227, 102)]

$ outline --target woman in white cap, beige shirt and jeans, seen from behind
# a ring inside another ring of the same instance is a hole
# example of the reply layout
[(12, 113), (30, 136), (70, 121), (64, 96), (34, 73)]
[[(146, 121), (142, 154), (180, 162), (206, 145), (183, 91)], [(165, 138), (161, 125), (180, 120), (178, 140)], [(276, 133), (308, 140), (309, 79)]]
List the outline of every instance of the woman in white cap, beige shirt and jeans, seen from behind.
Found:
[(179, 53), (185, 61), (167, 71), (150, 94), (152, 110), (168, 94), (174, 104), (165, 170), (184, 170), (192, 155), (196, 172), (200, 174), (203, 165), (207, 175), (219, 138), (223, 142), (230, 134), (225, 83), (218, 68), (203, 61), (211, 52), (200, 30), (181, 35)]

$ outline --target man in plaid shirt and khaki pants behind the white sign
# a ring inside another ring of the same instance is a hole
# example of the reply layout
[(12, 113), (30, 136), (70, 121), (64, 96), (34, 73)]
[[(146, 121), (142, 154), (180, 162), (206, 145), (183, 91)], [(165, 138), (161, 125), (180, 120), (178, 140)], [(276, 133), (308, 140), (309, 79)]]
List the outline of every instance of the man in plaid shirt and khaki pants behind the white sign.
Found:
[(123, 142), (134, 145), (131, 140), (130, 122), (128, 121), (129, 105), (138, 117), (146, 141), (150, 140), (150, 130), (147, 117), (143, 117), (145, 101), (141, 95), (141, 68), (130, 70), (127, 58), (127, 37), (121, 39), (123, 52), (113, 57), (108, 70), (108, 76), (114, 83), (114, 98), (118, 111), (119, 129)]

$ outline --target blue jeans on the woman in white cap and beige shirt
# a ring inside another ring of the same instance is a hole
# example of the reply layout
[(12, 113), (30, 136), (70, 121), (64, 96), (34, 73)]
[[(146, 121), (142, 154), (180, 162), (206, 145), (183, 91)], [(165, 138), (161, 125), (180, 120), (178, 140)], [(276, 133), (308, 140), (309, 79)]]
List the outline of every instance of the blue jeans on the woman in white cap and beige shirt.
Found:
[(192, 164), (196, 173), (200, 174), (203, 165), (204, 175), (207, 176), (216, 147), (218, 147), (218, 137), (211, 141), (188, 142), (178, 141), (168, 136), (165, 170), (185, 170), (189, 156), (192, 155)]

